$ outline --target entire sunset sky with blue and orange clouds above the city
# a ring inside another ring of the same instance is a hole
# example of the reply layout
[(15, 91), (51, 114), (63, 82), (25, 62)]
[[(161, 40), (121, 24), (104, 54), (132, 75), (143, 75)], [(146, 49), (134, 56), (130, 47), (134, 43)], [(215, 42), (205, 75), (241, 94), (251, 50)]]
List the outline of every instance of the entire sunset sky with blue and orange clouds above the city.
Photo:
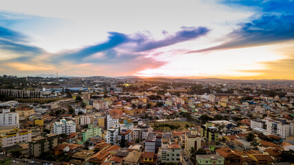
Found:
[(294, 80), (293, 0), (4, 0), (0, 75)]

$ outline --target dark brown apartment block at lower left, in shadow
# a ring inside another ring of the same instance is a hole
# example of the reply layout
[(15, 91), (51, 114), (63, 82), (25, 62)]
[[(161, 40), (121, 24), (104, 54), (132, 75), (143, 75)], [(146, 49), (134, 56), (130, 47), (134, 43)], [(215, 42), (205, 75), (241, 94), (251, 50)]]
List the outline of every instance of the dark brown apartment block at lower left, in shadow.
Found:
[(55, 146), (57, 146), (57, 140), (59, 135), (50, 134), (45, 135), (42, 134), (43, 137), (36, 137), (32, 139), (29, 143), (29, 155), (38, 157), (44, 152), (52, 150)]

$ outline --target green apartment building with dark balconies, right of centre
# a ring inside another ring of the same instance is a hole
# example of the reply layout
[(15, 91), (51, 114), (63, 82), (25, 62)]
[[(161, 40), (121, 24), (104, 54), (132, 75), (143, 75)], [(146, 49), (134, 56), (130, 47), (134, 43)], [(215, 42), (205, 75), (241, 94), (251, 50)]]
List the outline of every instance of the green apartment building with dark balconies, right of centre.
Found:
[(207, 122), (201, 126), (201, 137), (208, 142), (218, 143), (218, 129), (212, 126), (212, 122)]

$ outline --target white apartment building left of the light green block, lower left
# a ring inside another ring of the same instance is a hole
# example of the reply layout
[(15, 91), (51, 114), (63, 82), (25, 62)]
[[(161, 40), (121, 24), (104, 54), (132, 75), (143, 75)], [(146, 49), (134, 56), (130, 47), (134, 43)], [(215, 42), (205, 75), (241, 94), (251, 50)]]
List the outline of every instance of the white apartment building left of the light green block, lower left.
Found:
[(52, 133), (61, 134), (61, 133), (75, 133), (76, 132), (76, 124), (73, 121), (67, 121), (65, 119), (61, 119), (60, 122), (54, 122), (52, 127)]

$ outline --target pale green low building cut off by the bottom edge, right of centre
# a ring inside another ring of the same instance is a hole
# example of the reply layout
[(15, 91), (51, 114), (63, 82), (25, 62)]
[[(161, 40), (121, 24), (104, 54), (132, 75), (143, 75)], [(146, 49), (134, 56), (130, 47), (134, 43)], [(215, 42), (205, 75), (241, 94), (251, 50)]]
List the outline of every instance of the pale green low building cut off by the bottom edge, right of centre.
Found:
[(196, 155), (196, 165), (222, 165), (224, 157), (220, 155)]

